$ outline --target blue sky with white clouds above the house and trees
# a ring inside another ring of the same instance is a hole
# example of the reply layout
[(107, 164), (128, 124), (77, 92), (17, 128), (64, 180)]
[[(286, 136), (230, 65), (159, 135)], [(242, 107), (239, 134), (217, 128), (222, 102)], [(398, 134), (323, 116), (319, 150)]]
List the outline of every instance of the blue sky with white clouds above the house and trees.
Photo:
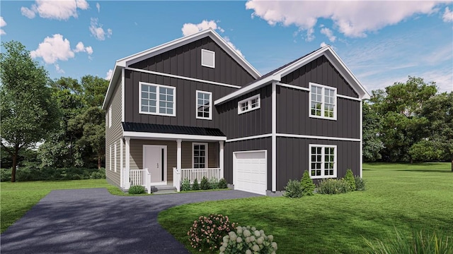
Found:
[(50, 78), (108, 78), (117, 59), (212, 27), (262, 74), (331, 44), (369, 92), (408, 75), (453, 90), (452, 1), (1, 1), (0, 16), (1, 41)]

